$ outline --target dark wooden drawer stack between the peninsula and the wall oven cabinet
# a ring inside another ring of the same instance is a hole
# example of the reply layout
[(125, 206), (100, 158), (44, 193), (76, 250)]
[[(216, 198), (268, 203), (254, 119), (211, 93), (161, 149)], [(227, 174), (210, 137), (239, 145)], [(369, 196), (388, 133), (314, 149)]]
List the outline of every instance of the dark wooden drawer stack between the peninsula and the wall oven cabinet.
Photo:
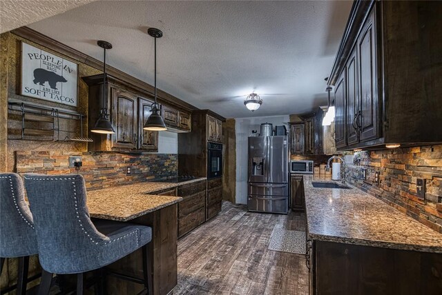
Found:
[(206, 181), (178, 187), (178, 237), (184, 236), (206, 221)]

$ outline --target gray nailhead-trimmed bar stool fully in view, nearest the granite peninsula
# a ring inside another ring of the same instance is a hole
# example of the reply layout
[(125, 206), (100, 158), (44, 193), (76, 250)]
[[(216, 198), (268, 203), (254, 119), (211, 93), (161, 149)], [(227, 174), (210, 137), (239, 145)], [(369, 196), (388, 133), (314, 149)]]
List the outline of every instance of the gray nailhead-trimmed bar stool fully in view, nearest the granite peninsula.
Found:
[(151, 227), (105, 220), (93, 223), (81, 175), (25, 174), (24, 179), (44, 269), (39, 294), (48, 294), (52, 274), (77, 274), (77, 294), (82, 294), (84, 272), (102, 269), (140, 247), (144, 277), (119, 277), (144, 284), (143, 292), (151, 294), (150, 267), (146, 263)]

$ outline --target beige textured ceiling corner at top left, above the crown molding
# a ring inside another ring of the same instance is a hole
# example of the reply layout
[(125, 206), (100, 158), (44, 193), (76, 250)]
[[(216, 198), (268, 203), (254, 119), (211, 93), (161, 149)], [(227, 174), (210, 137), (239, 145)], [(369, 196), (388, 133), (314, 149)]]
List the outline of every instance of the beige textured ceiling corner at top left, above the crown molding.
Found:
[(0, 32), (26, 26), (95, 0), (1, 0)]

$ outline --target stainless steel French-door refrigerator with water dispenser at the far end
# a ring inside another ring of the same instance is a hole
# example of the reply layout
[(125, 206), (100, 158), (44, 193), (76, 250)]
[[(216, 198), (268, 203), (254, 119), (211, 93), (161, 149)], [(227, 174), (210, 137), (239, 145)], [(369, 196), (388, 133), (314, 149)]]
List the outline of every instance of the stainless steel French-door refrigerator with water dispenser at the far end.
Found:
[(287, 214), (287, 136), (249, 137), (249, 211)]

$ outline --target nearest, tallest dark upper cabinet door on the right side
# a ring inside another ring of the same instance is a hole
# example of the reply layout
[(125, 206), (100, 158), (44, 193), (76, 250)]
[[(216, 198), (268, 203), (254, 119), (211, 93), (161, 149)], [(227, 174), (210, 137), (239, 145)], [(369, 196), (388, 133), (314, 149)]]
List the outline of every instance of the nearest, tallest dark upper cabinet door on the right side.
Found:
[(358, 37), (359, 84), (361, 85), (361, 141), (379, 137), (374, 10)]

